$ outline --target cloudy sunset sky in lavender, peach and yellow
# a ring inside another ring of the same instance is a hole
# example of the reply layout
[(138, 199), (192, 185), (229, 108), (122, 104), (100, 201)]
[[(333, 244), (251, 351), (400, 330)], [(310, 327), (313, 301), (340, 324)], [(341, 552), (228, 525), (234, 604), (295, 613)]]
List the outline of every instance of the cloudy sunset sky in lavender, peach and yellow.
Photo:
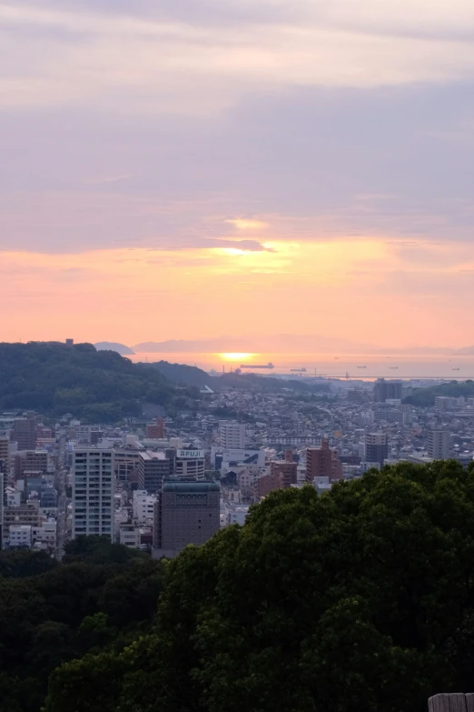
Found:
[(469, 0), (0, 0), (0, 338), (469, 346), (473, 40)]

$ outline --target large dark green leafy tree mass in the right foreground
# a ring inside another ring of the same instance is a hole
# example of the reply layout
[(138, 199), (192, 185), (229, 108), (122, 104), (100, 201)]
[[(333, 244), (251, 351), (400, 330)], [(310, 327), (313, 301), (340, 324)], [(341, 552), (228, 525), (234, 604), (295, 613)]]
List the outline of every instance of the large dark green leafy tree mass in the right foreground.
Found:
[(474, 472), (456, 462), (280, 490), (168, 569), (153, 630), (55, 670), (47, 712), (424, 712), (472, 687)]

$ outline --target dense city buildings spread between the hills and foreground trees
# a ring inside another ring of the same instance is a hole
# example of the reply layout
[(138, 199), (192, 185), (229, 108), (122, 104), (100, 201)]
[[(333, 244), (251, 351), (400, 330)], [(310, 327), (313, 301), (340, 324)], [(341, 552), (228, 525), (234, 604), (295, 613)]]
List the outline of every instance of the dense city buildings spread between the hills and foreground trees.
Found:
[(298, 376), (281, 376), (263, 391), (237, 371), (230, 382), (209, 376), (213, 387), (200, 388), (193, 412), (173, 417), (109, 425), (4, 412), (3, 547), (61, 559), (70, 539), (99, 535), (173, 558), (243, 525), (274, 490), (310, 485), (321, 494), (372, 468), (474, 461), (474, 388), (417, 406), (414, 392), (449, 381), (308, 376), (301, 392), (291, 390)]

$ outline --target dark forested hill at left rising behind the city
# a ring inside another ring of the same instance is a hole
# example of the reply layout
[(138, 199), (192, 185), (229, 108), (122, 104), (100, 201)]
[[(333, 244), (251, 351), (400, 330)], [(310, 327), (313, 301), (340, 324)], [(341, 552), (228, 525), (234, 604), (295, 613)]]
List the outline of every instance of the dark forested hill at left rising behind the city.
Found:
[(116, 422), (139, 416), (142, 403), (187, 405), (196, 394), (150, 365), (133, 364), (92, 344), (0, 344), (0, 408), (34, 409), (57, 417)]

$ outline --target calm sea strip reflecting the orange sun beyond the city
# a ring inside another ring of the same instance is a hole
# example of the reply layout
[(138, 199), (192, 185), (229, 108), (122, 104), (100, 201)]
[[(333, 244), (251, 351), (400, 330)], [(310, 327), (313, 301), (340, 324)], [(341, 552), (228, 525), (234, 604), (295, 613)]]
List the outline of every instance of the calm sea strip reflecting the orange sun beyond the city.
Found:
[[(228, 373), (246, 366), (245, 373), (267, 376), (299, 376), (374, 380), (467, 380), (474, 379), (474, 356), (433, 356), (380, 354), (209, 354), (209, 353), (141, 353), (128, 356), (134, 362), (169, 361), (173, 364), (198, 366), (204, 371)], [(255, 368), (272, 364), (273, 368)]]

